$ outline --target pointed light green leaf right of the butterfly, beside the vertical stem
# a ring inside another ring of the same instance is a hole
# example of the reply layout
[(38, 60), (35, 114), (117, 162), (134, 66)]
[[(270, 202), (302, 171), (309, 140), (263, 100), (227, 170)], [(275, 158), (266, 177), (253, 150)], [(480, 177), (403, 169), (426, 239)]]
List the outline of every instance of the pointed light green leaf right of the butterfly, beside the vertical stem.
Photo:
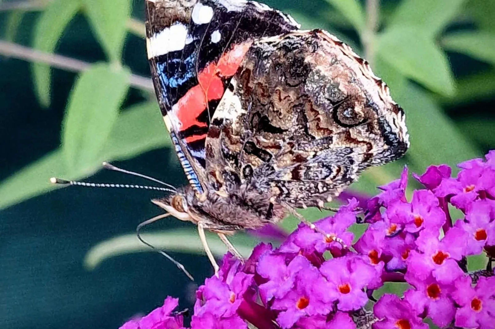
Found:
[(377, 54), (404, 76), (435, 92), (449, 96), (455, 91), (446, 56), (425, 31), (387, 29), (378, 38)]

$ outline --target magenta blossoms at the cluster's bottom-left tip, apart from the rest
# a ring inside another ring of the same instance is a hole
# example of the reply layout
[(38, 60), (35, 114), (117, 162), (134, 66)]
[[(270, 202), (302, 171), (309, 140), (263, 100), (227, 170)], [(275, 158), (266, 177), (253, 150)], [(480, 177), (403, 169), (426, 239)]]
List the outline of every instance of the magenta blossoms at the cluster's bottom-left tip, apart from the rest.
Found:
[(120, 329), (181, 329), (183, 326), (182, 315), (171, 315), (179, 305), (179, 298), (167, 297), (163, 306), (151, 311), (141, 319), (133, 319), (126, 322)]

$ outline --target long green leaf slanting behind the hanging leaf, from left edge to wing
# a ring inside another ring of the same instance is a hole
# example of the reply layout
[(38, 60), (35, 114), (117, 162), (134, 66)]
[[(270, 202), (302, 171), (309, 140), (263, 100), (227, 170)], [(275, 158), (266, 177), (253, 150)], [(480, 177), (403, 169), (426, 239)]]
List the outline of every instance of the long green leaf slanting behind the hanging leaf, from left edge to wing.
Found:
[(49, 183), (50, 177), (81, 179), (98, 170), (103, 161), (129, 159), (169, 145), (170, 138), (157, 106), (156, 102), (147, 102), (120, 114), (99, 159), (84, 172), (78, 169), (70, 171), (60, 149), (3, 180), (0, 182), (0, 209), (56, 189), (57, 186)]

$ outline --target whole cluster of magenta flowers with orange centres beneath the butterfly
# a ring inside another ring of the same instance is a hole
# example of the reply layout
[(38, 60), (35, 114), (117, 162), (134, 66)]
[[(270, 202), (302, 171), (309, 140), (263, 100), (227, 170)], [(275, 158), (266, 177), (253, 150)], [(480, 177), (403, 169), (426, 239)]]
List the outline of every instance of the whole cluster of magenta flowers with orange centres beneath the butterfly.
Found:
[[(226, 254), (218, 276), (196, 292), (191, 329), (495, 328), (495, 151), (413, 176), (426, 189), (405, 197), (407, 169), (332, 217), (299, 224), (278, 248), (260, 244), (245, 262)], [(449, 205), (464, 218), (453, 221)], [(354, 243), (348, 228), (366, 224)], [(322, 234), (324, 232), (325, 234)], [(486, 270), (469, 273), (466, 257), (486, 252)], [(372, 294), (385, 282), (405, 282), (402, 297)], [(178, 329), (177, 299), (122, 329)], [(372, 311), (371, 311), (372, 309)]]

